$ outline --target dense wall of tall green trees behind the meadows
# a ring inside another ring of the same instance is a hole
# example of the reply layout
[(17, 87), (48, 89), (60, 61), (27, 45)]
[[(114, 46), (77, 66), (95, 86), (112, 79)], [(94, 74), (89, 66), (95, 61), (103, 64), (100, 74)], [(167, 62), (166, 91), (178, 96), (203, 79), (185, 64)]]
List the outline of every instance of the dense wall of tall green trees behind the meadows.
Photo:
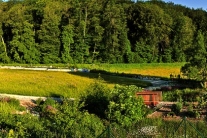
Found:
[(205, 10), (161, 0), (9, 0), (0, 15), (1, 63), (186, 62), (207, 43)]

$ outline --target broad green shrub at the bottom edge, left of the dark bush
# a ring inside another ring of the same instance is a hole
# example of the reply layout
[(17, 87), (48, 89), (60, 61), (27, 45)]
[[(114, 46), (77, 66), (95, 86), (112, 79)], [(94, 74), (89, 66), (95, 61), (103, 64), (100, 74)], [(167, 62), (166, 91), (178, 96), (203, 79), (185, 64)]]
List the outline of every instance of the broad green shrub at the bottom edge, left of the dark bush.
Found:
[(58, 137), (96, 137), (103, 131), (101, 120), (88, 112), (81, 112), (79, 101), (63, 99), (57, 112), (45, 118), (45, 127)]

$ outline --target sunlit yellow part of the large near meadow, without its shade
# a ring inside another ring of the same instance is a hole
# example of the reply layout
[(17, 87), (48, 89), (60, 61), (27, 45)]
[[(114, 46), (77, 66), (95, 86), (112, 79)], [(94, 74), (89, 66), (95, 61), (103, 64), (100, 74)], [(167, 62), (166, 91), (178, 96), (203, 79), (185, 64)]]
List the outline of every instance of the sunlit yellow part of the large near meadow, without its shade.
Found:
[(66, 72), (0, 70), (0, 93), (77, 97), (93, 79)]

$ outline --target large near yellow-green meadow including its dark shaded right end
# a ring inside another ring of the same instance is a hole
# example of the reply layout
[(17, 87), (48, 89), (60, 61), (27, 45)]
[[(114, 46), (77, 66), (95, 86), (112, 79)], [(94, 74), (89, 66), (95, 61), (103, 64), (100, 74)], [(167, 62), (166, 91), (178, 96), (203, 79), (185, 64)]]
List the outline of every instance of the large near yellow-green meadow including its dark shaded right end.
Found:
[[(79, 97), (95, 79), (98, 79), (98, 74), (93, 73), (10, 69), (0, 69), (0, 76), (0, 93), (73, 98)], [(113, 87), (115, 84), (140, 87), (149, 85), (149, 83), (118, 76), (103, 74), (101, 78), (109, 87)]]

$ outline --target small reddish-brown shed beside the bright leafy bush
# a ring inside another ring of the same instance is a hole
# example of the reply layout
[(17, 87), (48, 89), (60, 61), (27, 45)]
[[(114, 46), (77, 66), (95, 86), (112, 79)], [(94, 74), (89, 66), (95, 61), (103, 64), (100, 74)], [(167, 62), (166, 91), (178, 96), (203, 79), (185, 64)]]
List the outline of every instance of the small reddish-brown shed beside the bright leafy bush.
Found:
[(136, 96), (141, 96), (144, 103), (149, 106), (156, 106), (160, 101), (162, 101), (162, 91), (142, 91), (137, 92)]

